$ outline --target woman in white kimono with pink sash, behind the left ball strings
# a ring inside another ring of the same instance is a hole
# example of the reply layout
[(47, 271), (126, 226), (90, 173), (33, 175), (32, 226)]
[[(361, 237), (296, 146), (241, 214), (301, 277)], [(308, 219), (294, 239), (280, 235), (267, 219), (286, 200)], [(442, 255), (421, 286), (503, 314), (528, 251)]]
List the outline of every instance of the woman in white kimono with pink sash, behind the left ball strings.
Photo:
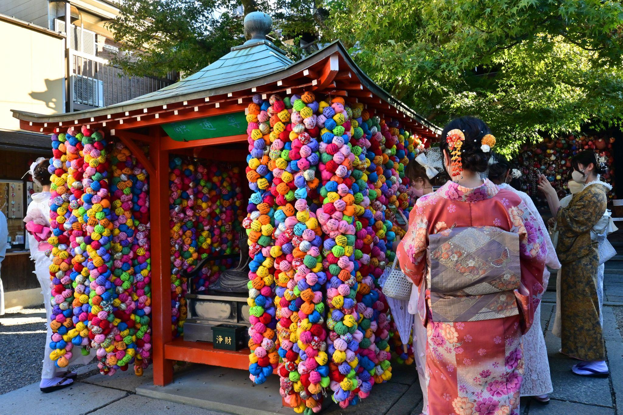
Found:
[[(28, 230), (28, 242), (31, 249), (31, 259), (35, 263), (34, 273), (41, 285), (43, 300), (45, 305), (45, 314), (47, 316), (47, 335), (45, 337), (45, 352), (43, 358), (43, 366), (41, 370), (41, 381), (39, 388), (44, 393), (56, 391), (58, 389), (67, 388), (74, 383), (77, 373), (74, 371), (58, 371), (54, 361), (50, 359), (52, 350), (49, 347), (50, 338), (52, 337), (52, 329), (50, 329), (50, 316), (52, 315), (52, 305), (50, 304), (50, 258), (45, 254), (46, 249), (50, 246), (47, 244), (47, 237), (50, 235), (50, 174), (47, 171), (49, 159), (39, 157), (31, 164), (28, 171), (32, 175), (35, 184), (42, 187), (42, 192), (35, 193), (31, 196), (32, 202), (29, 203), (24, 222), (26, 222), (26, 230)], [(95, 349), (93, 349), (94, 351)], [(87, 364), (92, 360), (95, 353), (83, 356), (82, 353), (75, 353), (71, 360), (72, 365)]]

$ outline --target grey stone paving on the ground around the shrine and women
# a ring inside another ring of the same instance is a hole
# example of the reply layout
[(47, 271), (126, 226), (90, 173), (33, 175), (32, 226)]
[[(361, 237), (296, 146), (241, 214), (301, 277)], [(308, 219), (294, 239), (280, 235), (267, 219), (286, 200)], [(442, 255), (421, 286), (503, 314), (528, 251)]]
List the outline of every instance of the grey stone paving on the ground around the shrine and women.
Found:
[[(548, 292), (541, 309), (541, 325), (554, 392), (546, 406), (523, 398), (522, 415), (623, 415), (623, 261), (606, 264), (604, 287), (608, 304), (604, 307), (604, 335), (611, 376), (582, 378), (571, 373), (575, 361), (558, 352), (560, 339), (551, 333), (555, 295)], [(151, 384), (150, 370), (142, 378), (130, 371), (108, 377), (99, 375), (91, 365), (83, 368), (75, 386), (56, 393), (42, 394), (38, 383), (34, 383), (0, 395), (0, 414), (293, 414), (291, 409), (280, 408), (277, 376), (269, 378), (269, 385), (260, 386), (253, 386), (246, 377), (244, 371), (196, 365), (179, 371), (174, 383), (160, 388)], [(376, 385), (368, 399), (346, 410), (327, 404), (323, 413), (417, 415), (421, 408), (422, 393), (415, 368), (396, 365), (392, 380)]]

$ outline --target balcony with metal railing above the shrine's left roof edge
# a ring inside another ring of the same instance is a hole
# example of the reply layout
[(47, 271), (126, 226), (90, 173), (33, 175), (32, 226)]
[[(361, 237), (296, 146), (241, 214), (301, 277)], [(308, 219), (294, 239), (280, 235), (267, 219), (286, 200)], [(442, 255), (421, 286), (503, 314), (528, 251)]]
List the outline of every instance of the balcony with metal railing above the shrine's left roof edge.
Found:
[(71, 50), (73, 102), (80, 106), (108, 106), (157, 91), (173, 79), (128, 77), (107, 59)]

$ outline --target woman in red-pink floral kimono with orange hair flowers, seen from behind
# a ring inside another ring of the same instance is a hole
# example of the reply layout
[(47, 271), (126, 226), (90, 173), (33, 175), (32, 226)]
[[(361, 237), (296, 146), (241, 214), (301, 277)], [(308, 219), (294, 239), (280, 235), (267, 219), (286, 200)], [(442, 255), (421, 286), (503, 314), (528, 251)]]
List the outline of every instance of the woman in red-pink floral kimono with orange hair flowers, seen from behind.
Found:
[(430, 415), (519, 413), (521, 334), (543, 292), (545, 241), (518, 195), (480, 179), (494, 145), (480, 119), (445, 126), (452, 180), (417, 200), (397, 250), (421, 294)]

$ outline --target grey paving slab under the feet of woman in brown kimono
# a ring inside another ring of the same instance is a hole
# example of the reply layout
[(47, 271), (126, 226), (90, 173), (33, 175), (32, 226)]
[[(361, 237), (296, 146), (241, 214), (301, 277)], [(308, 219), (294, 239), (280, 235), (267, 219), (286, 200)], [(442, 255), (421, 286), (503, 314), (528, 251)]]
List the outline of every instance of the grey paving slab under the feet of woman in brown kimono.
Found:
[(608, 378), (585, 378), (574, 375), (571, 366), (578, 360), (549, 358), (549, 371), (554, 391), (549, 396), (562, 401), (612, 407)]

